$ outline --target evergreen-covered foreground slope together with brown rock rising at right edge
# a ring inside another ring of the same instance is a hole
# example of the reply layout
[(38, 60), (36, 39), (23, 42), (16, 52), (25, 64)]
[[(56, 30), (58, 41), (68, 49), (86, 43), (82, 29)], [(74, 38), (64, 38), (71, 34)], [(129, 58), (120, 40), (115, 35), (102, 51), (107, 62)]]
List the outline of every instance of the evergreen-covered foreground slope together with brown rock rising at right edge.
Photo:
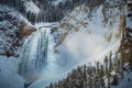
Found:
[(122, 32), (119, 52), (103, 59), (96, 66), (84, 65), (73, 69), (63, 80), (51, 84), (46, 88), (131, 88), (132, 87), (132, 1), (128, 1), (127, 13), (121, 16)]

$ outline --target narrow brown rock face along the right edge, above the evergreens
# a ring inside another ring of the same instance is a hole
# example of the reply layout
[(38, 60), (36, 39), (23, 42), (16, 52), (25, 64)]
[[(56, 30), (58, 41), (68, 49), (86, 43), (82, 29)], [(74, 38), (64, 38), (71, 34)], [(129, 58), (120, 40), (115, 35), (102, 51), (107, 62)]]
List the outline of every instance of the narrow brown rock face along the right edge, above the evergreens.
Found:
[(120, 46), (122, 64), (130, 62), (132, 64), (132, 1), (128, 1), (128, 15), (124, 19), (122, 41)]

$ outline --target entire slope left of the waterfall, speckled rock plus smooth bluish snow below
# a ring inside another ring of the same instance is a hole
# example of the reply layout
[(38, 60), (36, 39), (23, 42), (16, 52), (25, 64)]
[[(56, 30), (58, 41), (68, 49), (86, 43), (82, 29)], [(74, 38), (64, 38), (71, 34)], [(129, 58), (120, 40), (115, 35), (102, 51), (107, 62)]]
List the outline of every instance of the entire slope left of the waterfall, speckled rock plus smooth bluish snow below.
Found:
[(35, 28), (15, 9), (0, 4), (0, 87), (23, 88), (18, 59), (24, 40)]

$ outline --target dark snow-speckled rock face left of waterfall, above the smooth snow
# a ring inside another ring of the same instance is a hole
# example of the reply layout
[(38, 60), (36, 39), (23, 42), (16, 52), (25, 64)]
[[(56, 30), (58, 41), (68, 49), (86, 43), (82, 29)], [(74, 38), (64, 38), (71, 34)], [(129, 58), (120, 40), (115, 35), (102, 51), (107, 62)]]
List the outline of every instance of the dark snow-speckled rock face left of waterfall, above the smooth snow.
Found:
[(15, 10), (0, 6), (0, 55), (19, 56), (23, 38), (34, 31)]

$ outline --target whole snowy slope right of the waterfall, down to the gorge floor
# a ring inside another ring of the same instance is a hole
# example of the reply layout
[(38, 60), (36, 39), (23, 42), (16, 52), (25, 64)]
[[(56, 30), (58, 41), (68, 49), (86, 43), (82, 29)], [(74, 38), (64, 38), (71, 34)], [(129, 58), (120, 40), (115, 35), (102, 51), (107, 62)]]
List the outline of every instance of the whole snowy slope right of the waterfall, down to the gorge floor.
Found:
[(54, 61), (48, 62), (42, 78), (29, 88), (43, 88), (66, 77), (78, 65), (95, 65), (97, 61), (102, 62), (110, 51), (113, 54), (118, 52), (124, 13), (125, 2), (122, 0), (94, 1), (75, 8), (58, 26), (52, 29)]

